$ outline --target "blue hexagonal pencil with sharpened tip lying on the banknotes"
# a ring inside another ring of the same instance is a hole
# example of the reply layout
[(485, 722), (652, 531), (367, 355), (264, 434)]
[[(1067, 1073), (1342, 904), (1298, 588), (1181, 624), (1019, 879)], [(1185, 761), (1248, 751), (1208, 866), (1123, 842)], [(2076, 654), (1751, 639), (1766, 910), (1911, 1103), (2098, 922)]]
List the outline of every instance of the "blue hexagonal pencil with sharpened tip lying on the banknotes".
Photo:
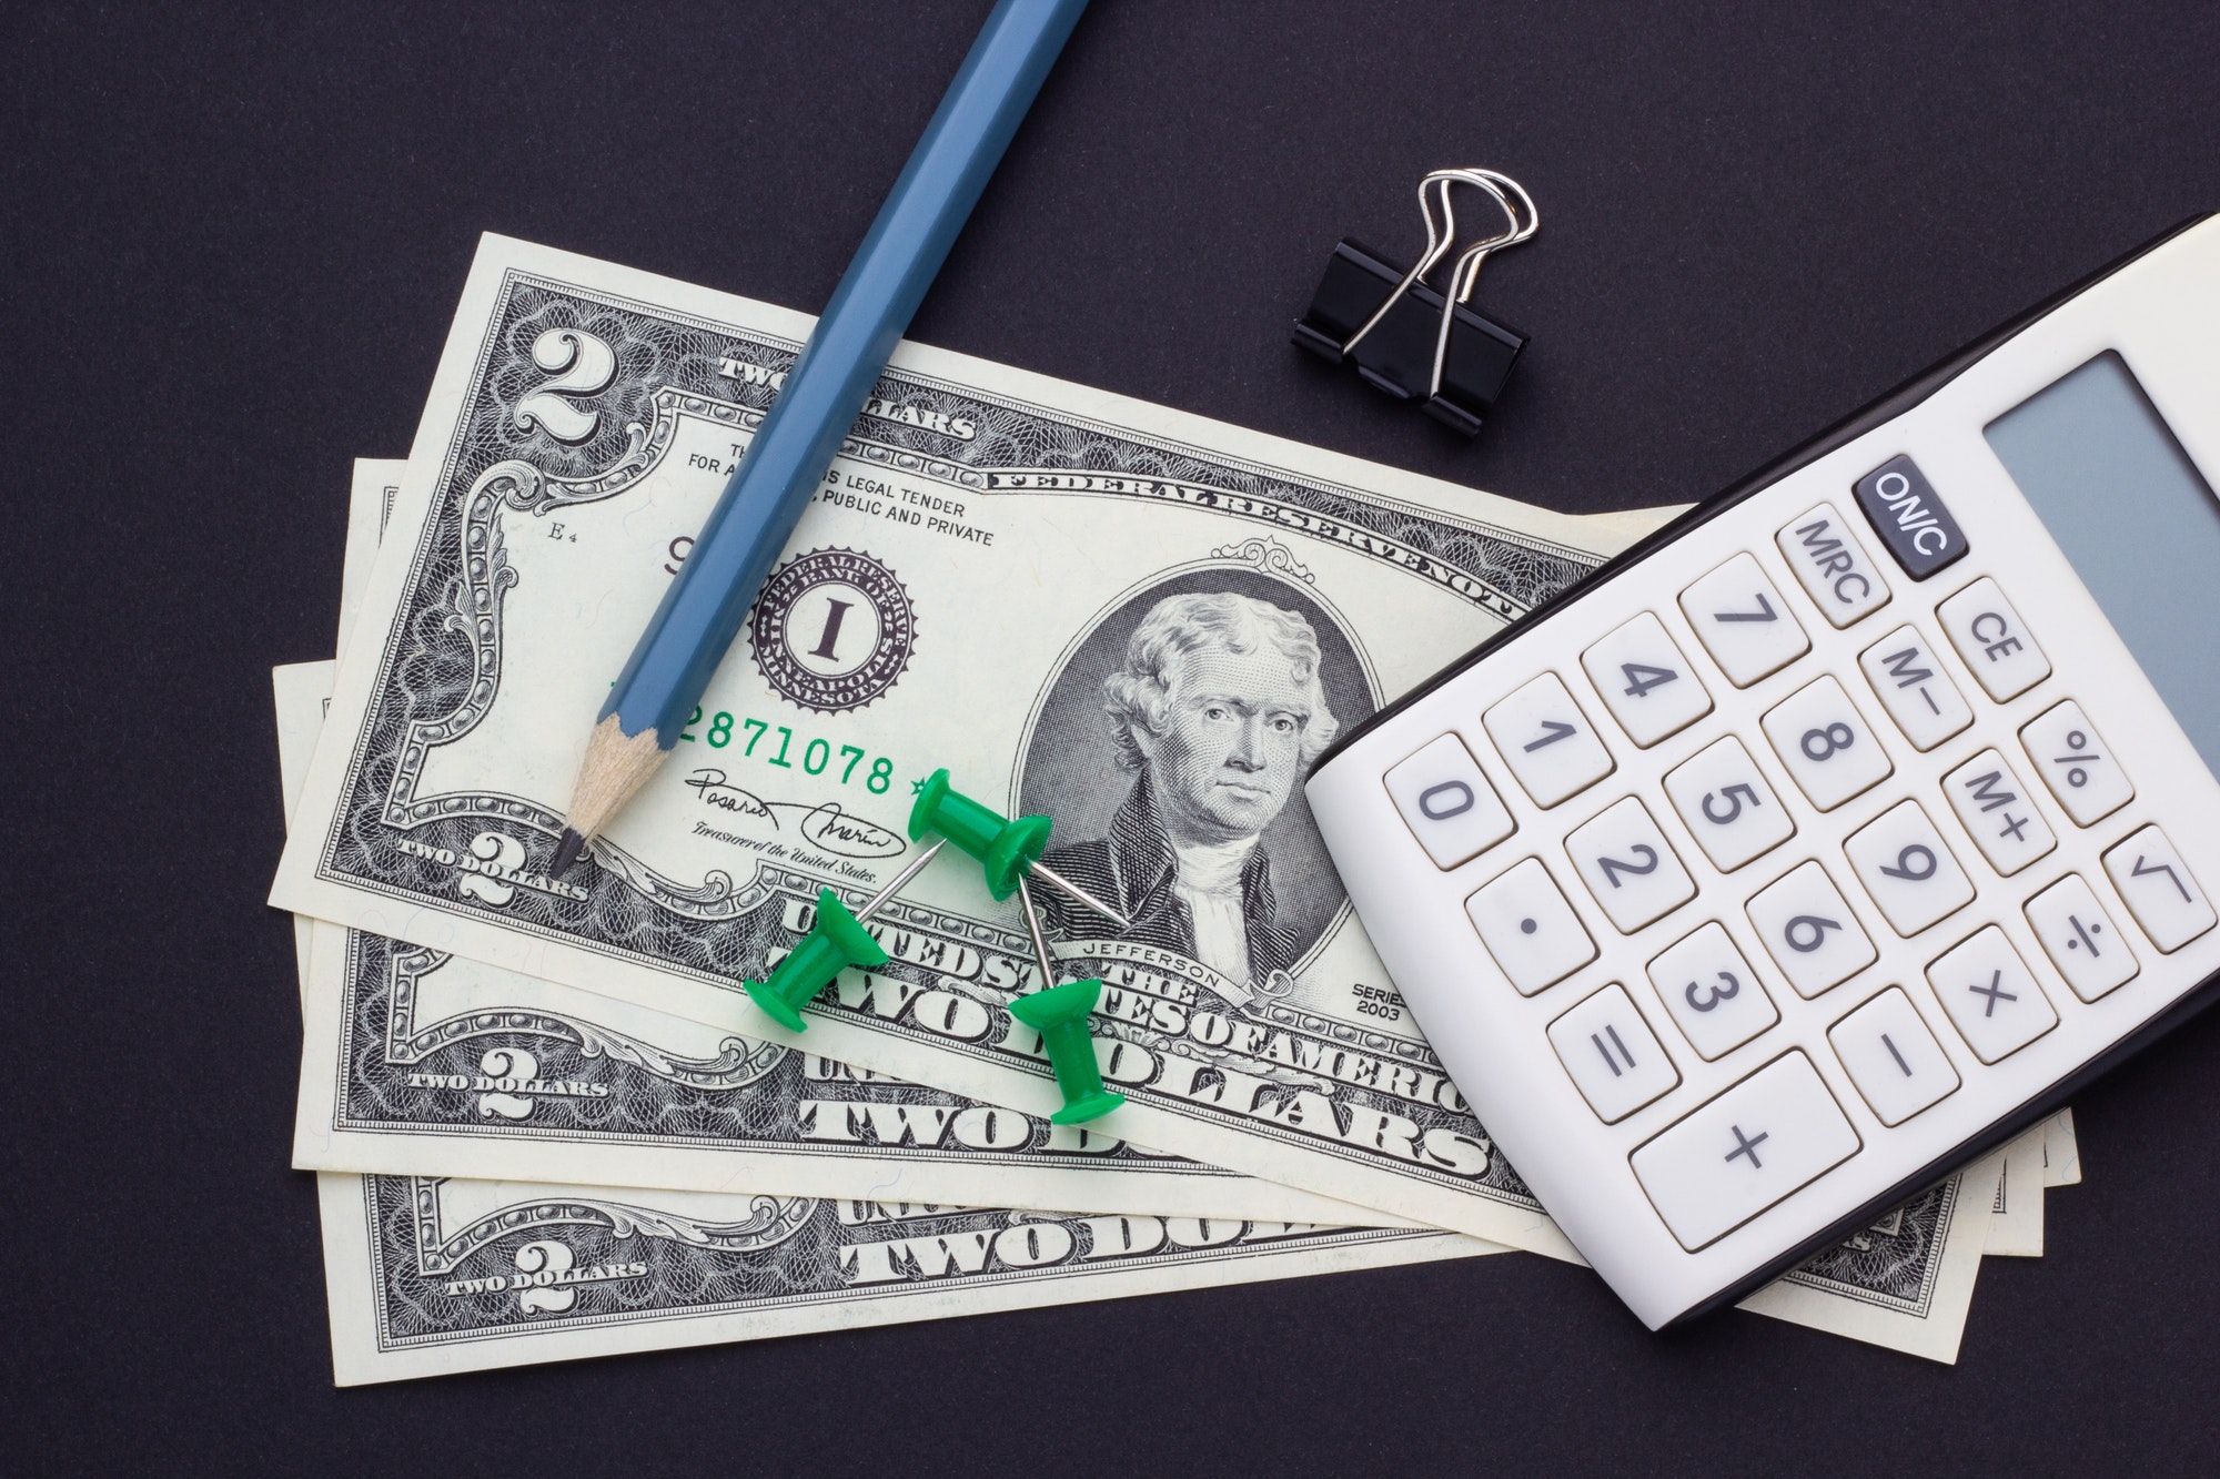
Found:
[(553, 873), (655, 773), (864, 411), (1086, 0), (1001, 0), (595, 720)]

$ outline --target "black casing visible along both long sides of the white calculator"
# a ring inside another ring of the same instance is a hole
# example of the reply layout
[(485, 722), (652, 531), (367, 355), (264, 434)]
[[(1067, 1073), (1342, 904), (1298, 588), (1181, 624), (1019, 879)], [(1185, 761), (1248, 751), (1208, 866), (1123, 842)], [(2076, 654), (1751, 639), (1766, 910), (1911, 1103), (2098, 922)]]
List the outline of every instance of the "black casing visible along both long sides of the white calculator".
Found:
[[(2136, 262), (2138, 258), (2156, 251), (2158, 247), (2164, 247), (2167, 242), (2171, 242), (2182, 231), (2189, 231), (2191, 227), (2196, 227), (2196, 224), (2200, 224), (2204, 220), (2211, 220), (2213, 215), (2220, 215), (2220, 211), (2202, 211), (2202, 213), (2191, 215), (2191, 218), (2187, 218), (2182, 222), (2176, 222), (2173, 227), (2160, 231), (2158, 235), (2153, 235), (2145, 244), (2136, 247), (2133, 251), (2129, 251), (2129, 253), (2125, 253), (2125, 255), (2107, 262), (2105, 266), (2096, 269), (2093, 273), (2089, 273), (2080, 282), (2071, 284), (2071, 286), (2067, 286), (2067, 289), (2062, 289), (2058, 293), (2051, 293), (2049, 298), (2045, 298), (2036, 306), (2027, 309), (2025, 313), (2018, 313), (2018, 315), (2005, 320), (2002, 324), (1998, 324), (1989, 333), (1980, 335), (1978, 340), (1974, 340), (1965, 349), (1958, 349), (1956, 353), (1945, 355), (1943, 360), (1938, 360), (1936, 364), (1927, 366), (1918, 375), (1911, 375), (1909, 380), (1905, 380), (1903, 384), (1898, 384), (1887, 395), (1880, 395), (1878, 400), (1874, 400), (1865, 409), (1854, 411), (1851, 415), (1843, 417), (1834, 426), (1820, 431), (1816, 437), (1812, 437), (1803, 446), (1796, 446), (1794, 451), (1789, 451), (1789, 453), (1785, 453), (1780, 457), (1774, 457), (1772, 462), (1767, 462), (1758, 471), (1749, 473), (1740, 482), (1729, 484), (1725, 491), (1716, 493), (1714, 497), (1703, 500), (1701, 504), (1696, 504), (1694, 509), (1689, 509), (1687, 513), (1683, 513), (1674, 522), (1665, 524), (1656, 533), (1638, 540), (1636, 544), (1632, 544), (1629, 549), (1625, 549), (1616, 557), (1603, 562), (1601, 566), (1596, 566), (1594, 571), (1590, 571), (1587, 575), (1583, 575), (1581, 580), (1576, 580), (1570, 586), (1565, 586), (1563, 591), (1558, 591), (1554, 597), (1545, 600), (1534, 611), (1525, 613), (1523, 617), (1518, 617), (1516, 622), (1512, 622), (1510, 626), (1505, 626), (1496, 635), (1492, 635), (1485, 642), (1481, 642), (1476, 648), (1472, 648), (1470, 653), (1465, 653), (1463, 657), (1459, 657), (1456, 662), (1452, 662), (1450, 666), (1445, 666), (1434, 677), (1425, 680), (1423, 684), (1419, 684), (1416, 688), (1412, 688), (1403, 697), (1394, 700), (1392, 704), (1388, 704), (1385, 708), (1381, 708), (1379, 713), (1374, 713), (1370, 720), (1365, 720), (1363, 724), (1359, 724), (1350, 733), (1339, 735), (1334, 740), (1334, 744), (1330, 744), (1325, 748), (1325, 753), (1319, 757), (1319, 762), (1312, 766), (1312, 775), (1316, 775), (1328, 764), (1332, 764), (1334, 757), (1341, 755), (1341, 751), (1345, 751), (1350, 744), (1354, 744), (1356, 740), (1361, 740), (1370, 728), (1374, 728), (1376, 724), (1383, 724), (1385, 720), (1394, 717), (1405, 706), (1416, 704), (1427, 693), (1432, 693), (1441, 684), (1454, 680), (1459, 673), (1467, 671), (1472, 664), (1481, 662), (1483, 657), (1487, 657), (1487, 653), (1496, 651), (1505, 642), (1523, 635), (1525, 631), (1530, 631), (1538, 622), (1545, 622), (1547, 617), (1556, 615), (1558, 611), (1563, 611), (1572, 602), (1576, 602), (1576, 600), (1590, 595), (1592, 591), (1601, 588), (1614, 575), (1618, 575), (1621, 571), (1632, 569), (1641, 560), (1647, 560), (1649, 555), (1658, 553), (1661, 549), (1665, 549), (1667, 544), (1672, 544), (1674, 540), (1678, 540), (1689, 529), (1696, 529), (1698, 524), (1718, 517), (1721, 513), (1725, 513), (1727, 509), (1736, 506), (1745, 497), (1752, 497), (1752, 495), (1765, 491), (1767, 486), (1772, 486), (1774, 482), (1780, 482), (1783, 477), (1787, 477), (1796, 469), (1800, 469), (1800, 466), (1805, 466), (1809, 462), (1816, 462), (1818, 457), (1825, 457), (1827, 453), (1836, 451), (1838, 446), (1845, 446), (1847, 442), (1858, 440), (1860, 435), (1865, 435), (1867, 431), (1880, 426), (1883, 422), (1896, 420), (1898, 415), (1903, 415), (1905, 411), (1909, 411), (1911, 406), (1920, 404), (1923, 400), (1927, 400), (1929, 395), (1934, 395), (1936, 391), (1940, 391), (1945, 384), (1949, 384), (1951, 380), (1956, 380), (1967, 366), (1971, 366), (1976, 360), (1980, 360), (1982, 355), (1987, 355), (1991, 349), (1996, 349), (1998, 344), (2002, 344), (2005, 340), (2009, 340), (2011, 335), (2016, 335), (2020, 329), (2027, 329), (2031, 322), (2036, 322), (2038, 318), (2042, 318), (2045, 313), (2049, 313), (2058, 304), (2067, 302), (2069, 298), (2076, 298), (2076, 295), (2085, 293), (2087, 289), (2096, 286), (2105, 278), (2109, 278), (2116, 271), (2120, 271), (2122, 266), (2127, 266), (2129, 262)], [(2034, 1099), (2027, 1099), (2025, 1104), (2020, 1104), (2009, 1115), (1996, 1119), (1980, 1135), (1974, 1135), (1974, 1137), (1960, 1141), (1958, 1146), (1954, 1146), (1945, 1155), (1936, 1157), (1934, 1161), (1929, 1161), (1920, 1170), (1911, 1173), (1909, 1177), (1905, 1177), (1903, 1181), (1898, 1181), (1889, 1190), (1885, 1190), (1878, 1197), (1869, 1199), (1858, 1210), (1854, 1210), (1847, 1217), (1836, 1219), (1832, 1226), (1814, 1232), (1812, 1237), (1807, 1237), (1805, 1241), (1796, 1244), (1794, 1248), (1789, 1248), (1780, 1257), (1772, 1259), (1763, 1268), (1754, 1270), (1752, 1275), (1747, 1275), (1743, 1279), (1736, 1279), (1732, 1286), (1718, 1290), (1716, 1295), (1709, 1295), (1707, 1299), (1701, 1299), (1698, 1304), (1692, 1304), (1689, 1308), (1681, 1310), (1678, 1315), (1674, 1315), (1672, 1319), (1667, 1319), (1661, 1328), (1683, 1326), (1683, 1324), (1689, 1324), (1689, 1321), (1701, 1319), (1705, 1315), (1712, 1315), (1714, 1310), (1723, 1310), (1727, 1306), (1740, 1304), (1743, 1299), (1747, 1299), (1756, 1290), (1765, 1288), (1767, 1284), (1772, 1284), (1780, 1275), (1789, 1272), (1792, 1268), (1796, 1268), (1798, 1264), (1803, 1264), (1805, 1259), (1809, 1259), (1814, 1252), (1820, 1252), (1825, 1248), (1832, 1248), (1834, 1244), (1840, 1244), (1845, 1237), (1849, 1237), (1858, 1228), (1865, 1228), (1867, 1224), (1871, 1224), (1883, 1213), (1889, 1213), (1891, 1208), (1903, 1206), (1907, 1199), (1911, 1199), (1918, 1193), (1927, 1190), (1936, 1181), (1943, 1181), (1945, 1177), (1954, 1175), (1967, 1161), (1974, 1161), (1980, 1155), (1994, 1150), (1996, 1146), (2002, 1146), (2011, 1137), (2016, 1137), (2022, 1130), (2027, 1130), (2029, 1126), (2034, 1126), (2038, 1119), (2045, 1119), (2047, 1115), (2058, 1113), (2082, 1088), (2087, 1088), (2096, 1079), (2105, 1077), (2107, 1073), (2111, 1073), (2113, 1068), (2118, 1068), (2120, 1064), (2125, 1064), (2136, 1053), (2142, 1053), (2153, 1042), (2158, 1042), (2160, 1037), (2164, 1037), (2173, 1028), (2182, 1026), (2184, 1022), (2189, 1022), (2191, 1017), (2196, 1017), (2198, 1013), (2202, 1013), (2213, 1002), (2220, 1002), (2220, 975), (2207, 977), (2202, 984), (2198, 984), (2180, 1002), (2176, 1002), (2173, 1006), (2169, 1006), (2160, 1015), (2156, 1015), (2149, 1022), (2145, 1022), (2140, 1028), (2136, 1028), (2133, 1033), (2129, 1033), (2127, 1037), (2122, 1037), (2109, 1050), (2105, 1050), (2098, 1057), (2093, 1057), (2087, 1064), (2082, 1064), (2076, 1073), (2067, 1075), (2065, 1079), (2058, 1079), (2056, 1084), (2051, 1084), (2047, 1090), (2042, 1090)]]

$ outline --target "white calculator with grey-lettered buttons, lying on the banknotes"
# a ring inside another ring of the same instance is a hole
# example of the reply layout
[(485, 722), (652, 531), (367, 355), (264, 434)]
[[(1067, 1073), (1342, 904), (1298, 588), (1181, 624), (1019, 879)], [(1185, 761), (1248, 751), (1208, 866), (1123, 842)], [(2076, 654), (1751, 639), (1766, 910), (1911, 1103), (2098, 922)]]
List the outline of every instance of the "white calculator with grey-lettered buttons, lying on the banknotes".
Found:
[(1310, 806), (1494, 1141), (1652, 1328), (2220, 993), (2220, 218), (1698, 506)]

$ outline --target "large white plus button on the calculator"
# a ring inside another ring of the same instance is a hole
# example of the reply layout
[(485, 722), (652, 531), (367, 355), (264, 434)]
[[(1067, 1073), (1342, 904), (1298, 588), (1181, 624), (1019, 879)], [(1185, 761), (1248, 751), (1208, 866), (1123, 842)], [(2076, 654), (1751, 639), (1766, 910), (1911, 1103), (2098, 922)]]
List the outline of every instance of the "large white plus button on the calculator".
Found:
[(1789, 1053), (1718, 1095), (1629, 1164), (1665, 1226), (1696, 1252), (1858, 1153), (1812, 1059)]

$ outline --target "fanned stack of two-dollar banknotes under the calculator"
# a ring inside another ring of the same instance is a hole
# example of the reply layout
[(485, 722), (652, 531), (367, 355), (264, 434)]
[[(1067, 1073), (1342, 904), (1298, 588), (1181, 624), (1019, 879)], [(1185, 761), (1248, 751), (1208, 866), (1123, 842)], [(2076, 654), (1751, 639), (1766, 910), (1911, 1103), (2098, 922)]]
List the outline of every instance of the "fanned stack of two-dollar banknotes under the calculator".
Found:
[[(1301, 759), (1672, 511), (1556, 515), (904, 344), (675, 757), (551, 877), (610, 677), (808, 329), (486, 238), (408, 457), (355, 464), (340, 657), (275, 673), (271, 897), (340, 1384), (1576, 1259), (1396, 999)], [(808, 1033), (741, 995), (821, 888), (915, 857), (941, 766), (1126, 902), (1168, 886), (1159, 797), (1197, 762), (1134, 713), (1230, 626), (1314, 651), (1310, 737), (1243, 762), (1232, 933), (1057, 946), (1108, 984), (1123, 1108), (1048, 1121), (1017, 904), (952, 851)], [(1982, 1255), (2040, 1255), (2078, 1179), (2058, 1115), (1745, 1308), (1949, 1361)]]

